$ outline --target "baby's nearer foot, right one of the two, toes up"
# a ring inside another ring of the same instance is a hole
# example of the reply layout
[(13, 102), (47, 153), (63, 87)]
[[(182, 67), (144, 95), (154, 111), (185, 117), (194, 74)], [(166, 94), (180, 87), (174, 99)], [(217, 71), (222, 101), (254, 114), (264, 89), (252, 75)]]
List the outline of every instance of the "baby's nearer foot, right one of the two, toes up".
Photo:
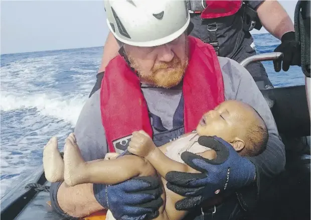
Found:
[(81, 156), (80, 149), (73, 133), (71, 133), (66, 139), (64, 147), (64, 163), (64, 179), (67, 185), (74, 186), (86, 183), (86, 163)]

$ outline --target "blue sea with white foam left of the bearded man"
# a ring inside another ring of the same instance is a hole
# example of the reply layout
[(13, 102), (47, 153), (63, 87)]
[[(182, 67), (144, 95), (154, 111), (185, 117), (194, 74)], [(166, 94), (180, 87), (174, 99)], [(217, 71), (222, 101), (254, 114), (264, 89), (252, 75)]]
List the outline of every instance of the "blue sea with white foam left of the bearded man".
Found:
[(54, 51), (2, 58), (0, 196), (42, 164), (43, 146), (52, 136), (62, 150), (95, 83), (100, 54)]

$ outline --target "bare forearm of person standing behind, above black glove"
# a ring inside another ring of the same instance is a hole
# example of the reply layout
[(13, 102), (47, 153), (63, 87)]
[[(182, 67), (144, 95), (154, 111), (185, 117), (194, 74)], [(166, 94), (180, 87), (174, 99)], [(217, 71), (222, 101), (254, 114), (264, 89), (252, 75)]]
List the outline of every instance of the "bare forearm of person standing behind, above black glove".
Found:
[(262, 26), (279, 40), (286, 32), (294, 31), (294, 25), (277, 1), (264, 1), (257, 9)]

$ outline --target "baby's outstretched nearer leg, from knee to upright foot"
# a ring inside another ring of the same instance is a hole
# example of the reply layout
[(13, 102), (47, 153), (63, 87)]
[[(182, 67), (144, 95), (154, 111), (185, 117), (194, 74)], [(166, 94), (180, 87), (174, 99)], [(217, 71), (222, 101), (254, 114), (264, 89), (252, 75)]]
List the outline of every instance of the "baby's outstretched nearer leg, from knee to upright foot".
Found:
[(64, 162), (64, 179), (69, 186), (82, 183), (116, 184), (136, 176), (153, 176), (157, 173), (147, 160), (134, 155), (85, 162), (73, 134), (66, 139)]

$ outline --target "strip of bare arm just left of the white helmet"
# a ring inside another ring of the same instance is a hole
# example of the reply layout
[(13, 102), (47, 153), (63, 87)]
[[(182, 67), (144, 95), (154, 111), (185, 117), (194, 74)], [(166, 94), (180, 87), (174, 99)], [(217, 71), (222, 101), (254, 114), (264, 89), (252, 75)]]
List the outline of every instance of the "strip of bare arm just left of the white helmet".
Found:
[(109, 61), (118, 55), (118, 51), (119, 45), (116, 42), (113, 34), (109, 32), (105, 42), (104, 52), (98, 72), (105, 71), (105, 68), (108, 65)]

